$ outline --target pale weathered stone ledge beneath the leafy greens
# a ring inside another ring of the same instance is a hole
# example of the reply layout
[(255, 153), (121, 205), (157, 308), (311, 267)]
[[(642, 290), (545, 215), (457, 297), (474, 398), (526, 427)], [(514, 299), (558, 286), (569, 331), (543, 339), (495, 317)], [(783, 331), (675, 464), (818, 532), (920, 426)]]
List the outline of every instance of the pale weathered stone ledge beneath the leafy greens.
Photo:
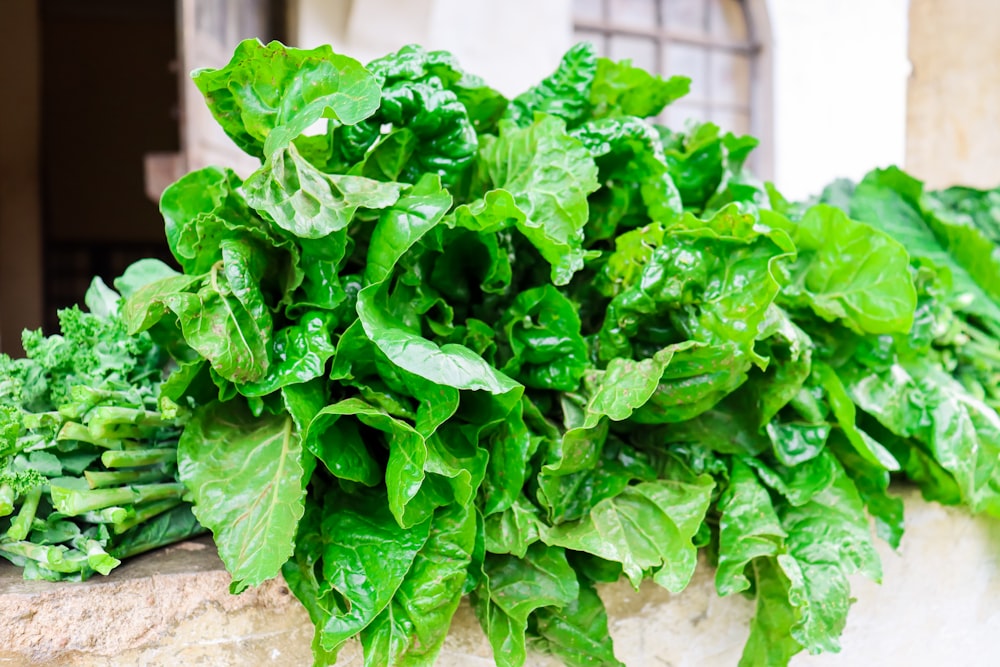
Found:
[[(1000, 522), (928, 504), (902, 489), (907, 534), (900, 552), (879, 544), (884, 584), (858, 578), (843, 652), (801, 655), (796, 667), (997, 664)], [(648, 583), (648, 582), (647, 582)], [(211, 540), (200, 538), (133, 559), (84, 583), (29, 582), (0, 565), (0, 665), (213, 667), (310, 665), (312, 627), (281, 581), (233, 596)], [(729, 667), (739, 661), (752, 602), (721, 599), (700, 564), (671, 595), (601, 588), (616, 650), (629, 667)], [(349, 644), (338, 665), (359, 667)], [(468, 605), (455, 618), (438, 665), (490, 667), (492, 653)], [(558, 663), (543, 656), (532, 667)]]

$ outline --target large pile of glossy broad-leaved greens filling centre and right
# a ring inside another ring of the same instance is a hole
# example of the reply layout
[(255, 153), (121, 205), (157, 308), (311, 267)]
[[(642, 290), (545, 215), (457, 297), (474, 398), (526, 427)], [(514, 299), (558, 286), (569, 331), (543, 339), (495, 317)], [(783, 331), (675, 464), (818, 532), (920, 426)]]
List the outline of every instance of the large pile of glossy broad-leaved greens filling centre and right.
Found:
[(194, 79), (261, 167), (167, 190), (183, 273), (122, 317), (232, 591), (282, 574), (317, 664), (433, 664), (468, 594), (498, 665), (618, 665), (596, 585), (701, 551), (756, 600), (741, 664), (785, 665), (880, 578), (869, 517), (899, 544), (891, 475), (1000, 514), (996, 193), (790, 203), (754, 139), (648, 120), (686, 79), (586, 44), (510, 100), (413, 46)]

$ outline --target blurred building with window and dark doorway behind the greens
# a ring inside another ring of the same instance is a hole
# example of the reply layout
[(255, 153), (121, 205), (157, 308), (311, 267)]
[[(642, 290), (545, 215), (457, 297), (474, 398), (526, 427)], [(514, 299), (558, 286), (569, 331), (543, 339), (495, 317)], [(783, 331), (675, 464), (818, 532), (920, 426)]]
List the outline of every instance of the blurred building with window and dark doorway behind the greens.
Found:
[(178, 176), (253, 170), (187, 77), (245, 37), (447, 49), (510, 96), (589, 40), (691, 77), (663, 120), (760, 138), (752, 169), (800, 199), (890, 164), (1000, 184), (998, 25), (995, 0), (0, 0), (0, 350), (92, 276), (169, 259), (156, 202)]

